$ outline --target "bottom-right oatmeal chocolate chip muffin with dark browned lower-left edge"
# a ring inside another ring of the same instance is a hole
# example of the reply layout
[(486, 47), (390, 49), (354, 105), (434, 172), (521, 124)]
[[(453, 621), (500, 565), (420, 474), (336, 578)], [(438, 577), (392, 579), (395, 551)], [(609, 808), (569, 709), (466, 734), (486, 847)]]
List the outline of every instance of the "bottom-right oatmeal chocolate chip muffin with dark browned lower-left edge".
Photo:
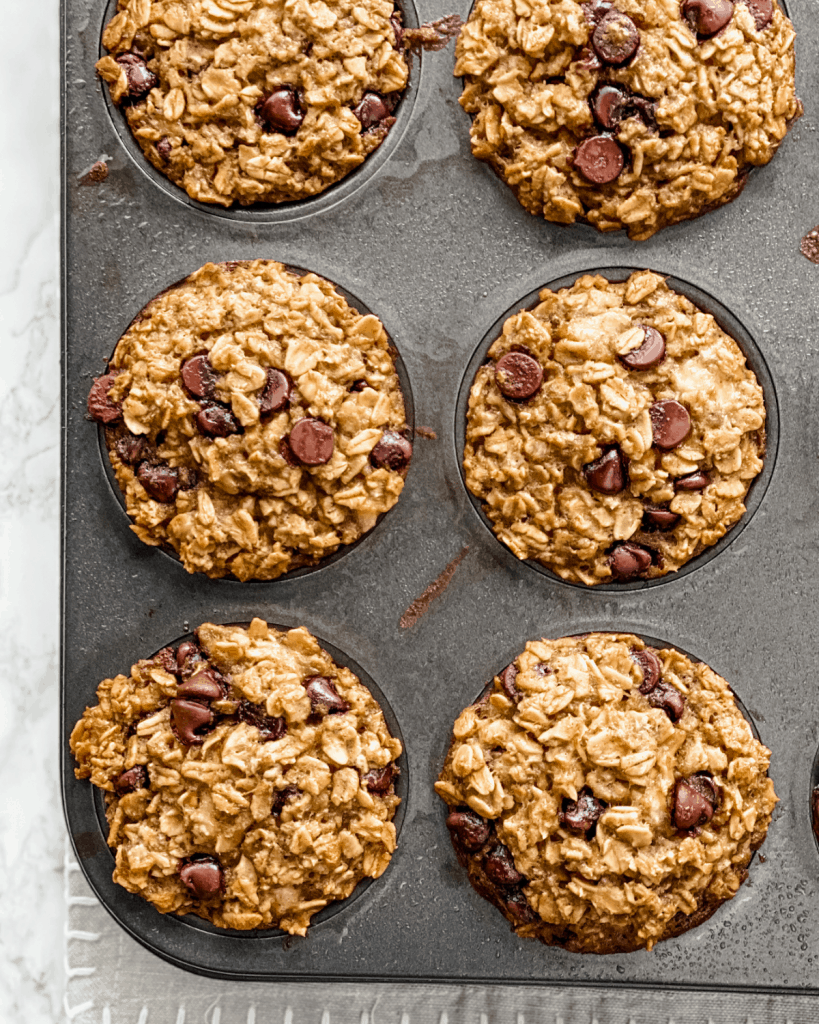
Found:
[(526, 644), (459, 716), (435, 790), (519, 936), (623, 953), (736, 894), (777, 803), (769, 758), (706, 665), (590, 633)]

